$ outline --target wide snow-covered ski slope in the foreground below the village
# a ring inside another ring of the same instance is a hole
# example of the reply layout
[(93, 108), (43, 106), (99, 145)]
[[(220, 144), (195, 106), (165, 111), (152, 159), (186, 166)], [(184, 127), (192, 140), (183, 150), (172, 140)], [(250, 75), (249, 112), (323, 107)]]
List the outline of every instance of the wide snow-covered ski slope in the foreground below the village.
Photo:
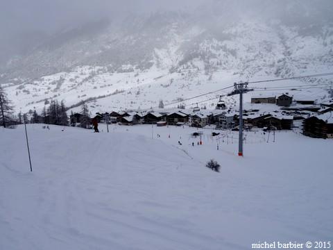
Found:
[[(199, 129), (199, 146), (196, 128), (50, 128), (28, 126), (32, 173), (24, 127), (0, 129), (0, 249), (333, 240), (333, 140), (251, 132), (240, 158), (236, 132)], [(205, 167), (211, 158), (221, 173)]]

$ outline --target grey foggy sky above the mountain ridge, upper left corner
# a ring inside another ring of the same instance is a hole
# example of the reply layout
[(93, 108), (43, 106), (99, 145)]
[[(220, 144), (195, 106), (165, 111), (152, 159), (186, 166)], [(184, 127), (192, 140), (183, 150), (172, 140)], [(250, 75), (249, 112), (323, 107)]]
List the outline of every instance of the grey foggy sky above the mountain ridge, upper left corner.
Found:
[(157, 10), (193, 9), (203, 0), (14, 0), (1, 3), (0, 62), (27, 53), (38, 41), (68, 28)]

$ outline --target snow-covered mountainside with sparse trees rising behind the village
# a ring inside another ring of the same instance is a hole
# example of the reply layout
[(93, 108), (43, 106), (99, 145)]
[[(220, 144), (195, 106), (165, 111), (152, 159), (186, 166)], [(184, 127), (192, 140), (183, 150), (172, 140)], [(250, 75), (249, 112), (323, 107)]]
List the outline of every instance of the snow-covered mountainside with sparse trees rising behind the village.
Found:
[(1, 67), (0, 82), (22, 110), (53, 98), (108, 110), (149, 108), (234, 81), (332, 72), (329, 12), (311, 1), (216, 0), (191, 13), (103, 19), (40, 40)]

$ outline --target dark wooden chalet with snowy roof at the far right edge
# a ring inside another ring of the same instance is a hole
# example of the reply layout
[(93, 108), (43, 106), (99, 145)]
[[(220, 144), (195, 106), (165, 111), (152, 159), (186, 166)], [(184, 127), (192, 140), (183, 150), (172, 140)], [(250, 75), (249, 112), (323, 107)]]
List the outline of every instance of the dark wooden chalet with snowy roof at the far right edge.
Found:
[(333, 111), (305, 119), (303, 135), (312, 138), (333, 138)]

